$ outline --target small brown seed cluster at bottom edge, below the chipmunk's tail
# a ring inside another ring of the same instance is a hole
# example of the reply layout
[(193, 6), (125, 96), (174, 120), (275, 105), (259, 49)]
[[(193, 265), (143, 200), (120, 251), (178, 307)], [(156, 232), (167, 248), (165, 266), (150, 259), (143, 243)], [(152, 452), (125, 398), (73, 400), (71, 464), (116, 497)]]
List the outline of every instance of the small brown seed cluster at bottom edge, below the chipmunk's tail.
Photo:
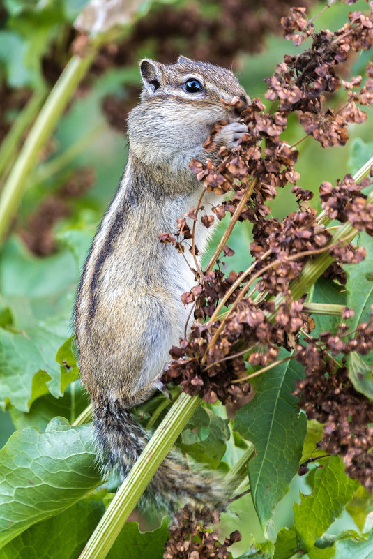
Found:
[(228, 559), (231, 553), (227, 548), (240, 542), (241, 534), (236, 530), (220, 544), (218, 534), (209, 528), (219, 522), (219, 513), (208, 507), (186, 505), (179, 509), (169, 528), (164, 559)]

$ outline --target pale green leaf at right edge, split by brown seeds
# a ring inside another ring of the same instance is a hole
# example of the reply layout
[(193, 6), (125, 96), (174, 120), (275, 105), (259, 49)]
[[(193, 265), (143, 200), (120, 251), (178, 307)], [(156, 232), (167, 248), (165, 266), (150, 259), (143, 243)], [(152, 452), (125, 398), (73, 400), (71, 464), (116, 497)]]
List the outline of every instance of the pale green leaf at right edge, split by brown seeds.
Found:
[[(370, 280), (373, 274), (373, 238), (365, 232), (360, 232), (358, 244), (367, 249), (365, 260), (358, 265), (344, 265), (347, 274), (347, 306), (355, 311), (355, 316), (349, 320), (351, 330), (355, 330), (360, 322), (367, 322), (370, 319), (373, 304), (373, 282)], [(373, 352), (358, 358), (353, 354), (347, 355), (347, 367), (356, 390), (367, 398), (372, 398)]]

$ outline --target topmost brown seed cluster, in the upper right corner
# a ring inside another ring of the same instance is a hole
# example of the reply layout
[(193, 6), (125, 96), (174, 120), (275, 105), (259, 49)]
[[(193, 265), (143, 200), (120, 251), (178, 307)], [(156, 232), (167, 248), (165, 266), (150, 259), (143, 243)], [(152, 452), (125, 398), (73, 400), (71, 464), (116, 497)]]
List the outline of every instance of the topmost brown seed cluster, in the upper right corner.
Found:
[[(349, 13), (349, 22), (332, 33), (316, 32), (314, 24), (307, 21), (305, 8), (292, 8), (289, 17), (282, 18), (284, 36), (299, 45), (308, 37), (312, 47), (298, 56), (285, 56), (268, 77), (266, 98), (278, 103), (277, 110), (288, 114), (300, 111), (300, 124), (323, 147), (344, 145), (348, 140), (347, 124), (365, 121), (367, 114), (356, 103), (370, 105), (373, 98), (372, 65), (367, 68), (368, 80), (361, 84), (361, 76), (344, 82), (336, 74), (337, 66), (347, 61), (351, 51), (367, 50), (373, 45), (373, 3), (371, 13)], [(325, 107), (326, 95), (341, 87), (347, 89), (346, 105), (340, 110)]]

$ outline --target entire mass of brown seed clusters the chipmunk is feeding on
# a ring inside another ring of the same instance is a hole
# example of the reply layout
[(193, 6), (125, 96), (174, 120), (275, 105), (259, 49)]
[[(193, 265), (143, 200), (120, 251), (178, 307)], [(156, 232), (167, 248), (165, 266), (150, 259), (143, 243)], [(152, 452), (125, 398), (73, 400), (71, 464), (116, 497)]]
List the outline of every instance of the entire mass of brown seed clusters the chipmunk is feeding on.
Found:
[[(366, 355), (372, 350), (371, 323), (359, 325), (356, 332), (351, 333), (342, 322), (336, 332), (312, 338), (314, 323), (304, 311), (304, 297), (298, 300), (291, 297), (289, 284), (298, 277), (305, 263), (319, 253), (328, 251), (335, 258), (325, 275), (345, 283), (346, 275), (341, 264), (360, 262), (365, 258), (365, 248), (354, 247), (347, 242), (348, 239), (333, 244), (330, 230), (322, 225), (316, 210), (310, 207), (313, 194), (297, 184), (298, 151), (282, 140), (292, 112), (299, 114), (303, 124), (306, 118), (317, 120), (312, 135), (323, 147), (343, 144), (347, 140), (347, 124), (363, 121), (365, 117), (361, 117), (356, 103), (367, 104), (372, 100), (372, 64), (368, 65), (363, 86), (360, 77), (343, 82), (336, 70), (341, 62), (346, 61), (350, 51), (372, 44), (370, 22), (373, 24), (372, 13), (358, 15), (354, 12), (349, 14), (349, 22), (335, 33), (328, 30), (316, 32), (313, 22), (307, 20), (305, 10), (291, 10), (289, 17), (282, 22), (288, 38), (301, 43), (300, 38), (309, 36), (312, 47), (298, 57), (285, 57), (276, 73), (268, 78), (266, 98), (272, 101), (269, 110), (256, 98), (243, 111), (241, 117), (248, 126), (248, 133), (241, 137), (238, 147), (231, 150), (222, 147), (220, 163), (209, 160), (206, 164), (191, 162), (192, 171), (198, 180), (203, 181), (207, 191), (219, 195), (232, 191), (233, 195), (230, 200), (213, 207), (211, 215), (203, 206), (202, 195), (198, 207), (191, 208), (179, 218), (177, 231), (162, 234), (161, 241), (174, 244), (178, 251), (190, 250), (196, 255), (195, 221), (201, 220), (202, 225), (210, 227), (215, 218), (222, 219), (229, 213), (234, 222), (247, 220), (254, 224), (250, 244), (253, 260), (247, 270), (231, 271), (227, 276), (220, 269), (219, 260), (215, 269), (213, 259), (205, 271), (199, 269), (195, 260), (196, 269), (193, 271), (198, 283), (183, 295), (182, 300), (191, 306), (190, 313), (194, 312), (196, 322), (190, 336), (185, 336), (178, 347), (172, 348), (172, 361), (163, 378), (165, 382), (175, 382), (185, 392), (199, 394), (208, 402), (217, 399), (223, 403), (236, 402), (250, 391), (251, 374), (270, 375), (268, 369), (277, 364), (279, 349), (294, 350), (294, 356), (305, 366), (306, 373), (297, 394), (302, 392), (301, 403), (307, 415), (317, 417), (319, 413), (319, 420), (324, 422), (326, 419), (321, 415), (326, 413), (328, 406), (330, 408), (332, 398), (329, 378), (339, 378), (349, 353)], [(342, 110), (331, 110), (326, 106), (326, 98), (330, 99), (341, 84), (347, 102)], [(352, 93), (356, 88), (360, 91)], [(240, 101), (234, 98), (231, 104), (239, 108)], [(324, 125), (326, 120), (328, 124)], [(216, 124), (205, 144), (206, 149), (214, 147), (214, 138), (221, 126), (224, 122)], [(291, 192), (299, 209), (279, 221), (268, 216), (270, 211), (266, 202), (275, 197), (278, 187), (287, 183), (292, 185)], [(372, 204), (367, 204), (367, 196), (363, 193), (370, 184), (369, 178), (357, 184), (351, 175), (337, 181), (336, 186), (327, 182), (321, 184), (319, 196), (326, 215), (341, 223), (349, 221), (358, 230), (372, 234), (373, 208)], [(222, 253), (223, 258), (227, 258), (233, 251), (225, 244)], [(282, 304), (276, 308), (273, 299), (278, 296), (282, 297)], [(348, 315), (346, 311), (343, 320), (347, 320)], [(353, 420), (347, 444), (342, 442), (347, 436), (346, 424), (343, 424), (342, 435), (342, 419), (333, 419), (334, 412), (330, 412), (329, 424), (335, 424), (333, 436), (329, 434), (330, 441), (335, 443), (333, 452), (342, 454), (350, 475), (359, 477), (365, 486), (370, 487), (372, 470), (363, 461), (362, 449), (367, 451), (370, 445), (367, 436), (370, 431), (367, 431), (365, 419), (372, 406), (353, 389), (351, 382), (339, 382), (338, 387), (340, 396), (335, 407), (335, 413), (338, 410), (340, 414), (338, 417), (351, 415), (347, 404), (352, 393), (354, 398), (365, 402), (366, 413), (353, 416), (356, 421)], [(317, 405), (312, 407), (314, 401)], [(308, 408), (307, 402), (310, 403)], [(331, 446), (327, 451), (332, 452)]]

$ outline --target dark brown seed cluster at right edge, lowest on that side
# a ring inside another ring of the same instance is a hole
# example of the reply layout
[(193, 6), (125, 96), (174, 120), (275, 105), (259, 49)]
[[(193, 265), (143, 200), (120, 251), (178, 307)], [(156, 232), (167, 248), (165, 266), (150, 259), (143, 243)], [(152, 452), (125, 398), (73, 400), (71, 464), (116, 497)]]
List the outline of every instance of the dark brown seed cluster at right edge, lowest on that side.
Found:
[[(348, 320), (353, 311), (346, 309)], [(367, 355), (373, 349), (373, 310), (370, 322), (358, 325), (349, 334), (343, 322), (337, 333), (323, 332), (307, 345), (298, 344), (296, 359), (303, 364), (306, 378), (298, 382), (294, 394), (309, 419), (326, 426), (323, 447), (330, 454), (341, 454), (346, 472), (369, 491), (373, 491), (373, 405), (358, 392), (349, 379), (344, 356), (351, 352)], [(342, 365), (335, 364), (334, 357)]]

